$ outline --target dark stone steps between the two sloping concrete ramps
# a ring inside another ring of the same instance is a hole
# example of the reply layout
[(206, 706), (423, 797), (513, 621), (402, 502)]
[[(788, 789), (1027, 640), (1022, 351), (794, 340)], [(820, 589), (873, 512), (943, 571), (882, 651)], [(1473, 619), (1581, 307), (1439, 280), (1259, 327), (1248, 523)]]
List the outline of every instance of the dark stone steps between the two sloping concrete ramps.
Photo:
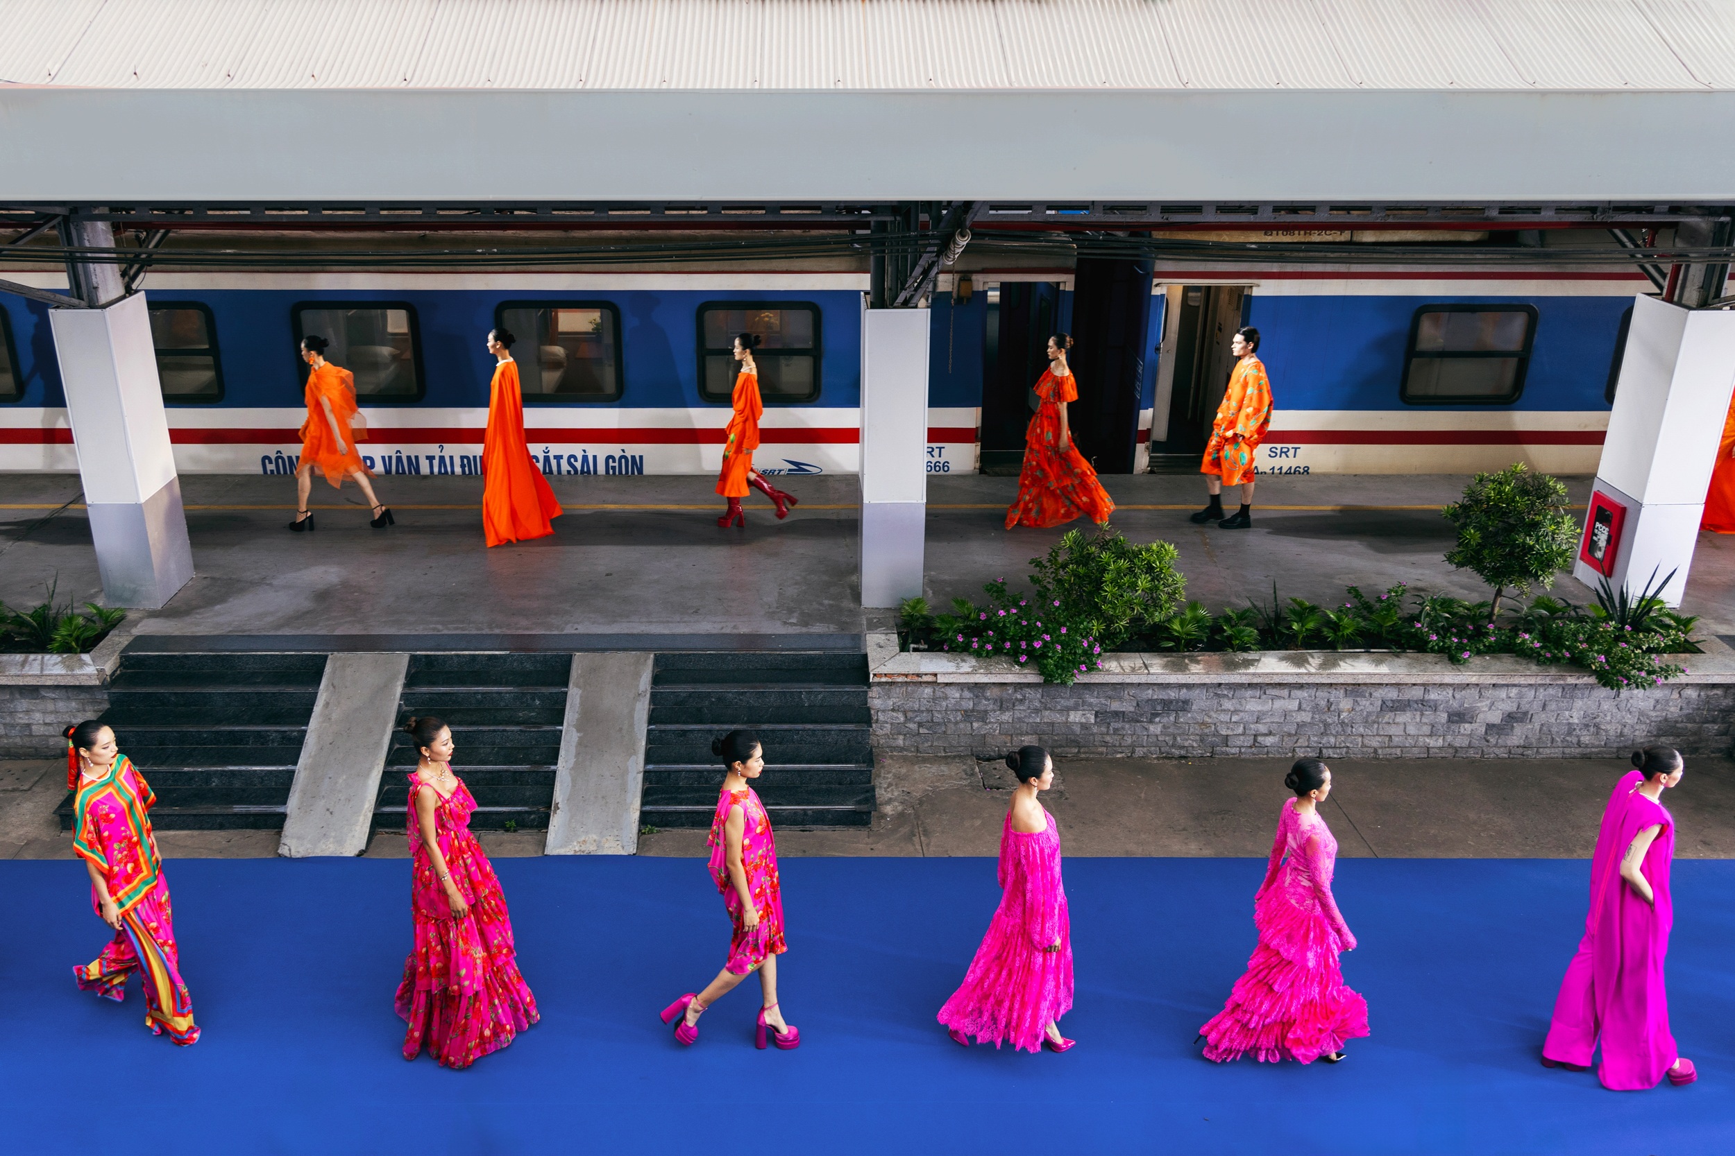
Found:
[[(411, 655), (397, 721), (432, 714), (451, 726), (451, 770), (475, 796), (472, 828), (548, 827), (571, 669), (567, 653)], [(403, 730), (394, 731), (375, 828), (404, 828), (415, 766), (415, 744)]]

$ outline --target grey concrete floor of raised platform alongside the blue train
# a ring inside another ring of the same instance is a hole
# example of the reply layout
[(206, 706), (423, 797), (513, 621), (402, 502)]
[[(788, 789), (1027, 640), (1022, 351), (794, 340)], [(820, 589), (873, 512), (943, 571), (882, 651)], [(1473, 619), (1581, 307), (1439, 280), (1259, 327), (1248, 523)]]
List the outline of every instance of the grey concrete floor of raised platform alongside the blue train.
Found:
[[(354, 487), (319, 482), (319, 529), (288, 534), (288, 478), (182, 478), (198, 575), (139, 624), (172, 634), (392, 633), (857, 633), (854, 477), (788, 482), (802, 506), (777, 522), (758, 496), (748, 529), (718, 530), (706, 477), (553, 478), (569, 513), (553, 537), (486, 549), (475, 478), (380, 478), (397, 525), (371, 530)], [(1438, 506), (1463, 477), (1272, 477), (1254, 527), (1195, 527), (1192, 475), (1105, 477), (1114, 525), (1180, 549), (1190, 598), (1211, 610), (1280, 596), (1331, 601), (1346, 584), (1483, 598), (1442, 555)], [(1567, 478), (1574, 501), (1588, 478)], [(935, 477), (928, 487), (928, 594), (944, 605), (992, 577), (1020, 579), (1067, 527), (1005, 530), (1017, 478)], [(75, 603), (101, 600), (75, 475), (0, 475), (0, 601), (33, 605), (49, 582)], [(1084, 525), (1084, 523), (1074, 523)], [(1088, 527), (1084, 527), (1088, 529)], [(1562, 575), (1575, 601), (1593, 593)], [(1686, 608), (1711, 633), (1735, 631), (1735, 536), (1702, 534)], [(883, 620), (883, 615), (880, 615)]]

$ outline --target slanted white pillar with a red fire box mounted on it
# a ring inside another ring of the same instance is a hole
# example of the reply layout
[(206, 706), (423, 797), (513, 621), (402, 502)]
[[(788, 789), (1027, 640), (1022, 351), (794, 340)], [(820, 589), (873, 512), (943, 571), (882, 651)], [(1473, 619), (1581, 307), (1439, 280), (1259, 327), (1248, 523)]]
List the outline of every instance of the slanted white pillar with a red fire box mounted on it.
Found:
[(1735, 390), (1735, 312), (1633, 302), (1620, 380), (1572, 575), (1679, 607)]

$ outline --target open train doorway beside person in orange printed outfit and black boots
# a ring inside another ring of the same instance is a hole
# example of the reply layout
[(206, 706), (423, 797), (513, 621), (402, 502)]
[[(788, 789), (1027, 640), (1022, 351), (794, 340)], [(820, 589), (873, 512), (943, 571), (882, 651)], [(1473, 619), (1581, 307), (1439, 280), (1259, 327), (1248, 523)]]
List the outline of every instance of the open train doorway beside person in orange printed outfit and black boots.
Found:
[(1235, 367), (1228, 343), (1242, 324), (1247, 286), (1171, 284), (1164, 293), (1150, 471), (1194, 473)]

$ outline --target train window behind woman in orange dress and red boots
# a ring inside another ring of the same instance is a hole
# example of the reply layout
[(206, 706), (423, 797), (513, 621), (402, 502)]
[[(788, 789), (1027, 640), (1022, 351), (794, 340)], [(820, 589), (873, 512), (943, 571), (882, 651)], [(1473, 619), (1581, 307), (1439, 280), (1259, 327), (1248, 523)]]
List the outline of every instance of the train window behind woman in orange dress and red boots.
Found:
[(710, 302), (699, 307), (699, 397), (727, 402), (736, 388), (734, 341), (756, 333), (753, 352), (767, 402), (819, 400), (819, 307), (807, 302)]

